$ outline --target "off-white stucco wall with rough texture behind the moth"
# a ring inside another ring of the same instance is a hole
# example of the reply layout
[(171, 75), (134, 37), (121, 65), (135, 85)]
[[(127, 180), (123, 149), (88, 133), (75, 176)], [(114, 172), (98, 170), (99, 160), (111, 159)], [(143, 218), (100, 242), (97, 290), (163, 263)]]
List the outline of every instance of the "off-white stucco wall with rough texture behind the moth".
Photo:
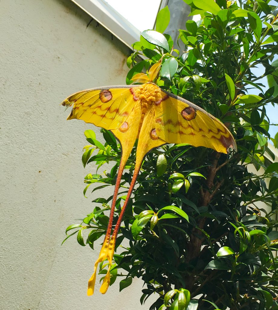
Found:
[(137, 279), (87, 297), (99, 248), (75, 237), (60, 246), (65, 228), (92, 211), (82, 191), (93, 167), (84, 170), (81, 155), (93, 126), (67, 122), (59, 103), (125, 84), (128, 72), (128, 48), (94, 21), (86, 29), (90, 19), (70, 0), (0, 0), (0, 309), (149, 308)]

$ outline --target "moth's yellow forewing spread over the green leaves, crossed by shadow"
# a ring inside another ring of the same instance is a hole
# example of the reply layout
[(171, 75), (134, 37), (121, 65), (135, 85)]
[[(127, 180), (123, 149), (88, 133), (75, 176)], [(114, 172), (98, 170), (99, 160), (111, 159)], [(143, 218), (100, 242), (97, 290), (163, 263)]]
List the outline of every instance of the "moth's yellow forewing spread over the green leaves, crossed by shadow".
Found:
[(162, 91), (162, 101), (155, 106), (155, 129), (167, 143), (205, 146), (217, 152), (237, 150), (228, 128), (197, 105)]

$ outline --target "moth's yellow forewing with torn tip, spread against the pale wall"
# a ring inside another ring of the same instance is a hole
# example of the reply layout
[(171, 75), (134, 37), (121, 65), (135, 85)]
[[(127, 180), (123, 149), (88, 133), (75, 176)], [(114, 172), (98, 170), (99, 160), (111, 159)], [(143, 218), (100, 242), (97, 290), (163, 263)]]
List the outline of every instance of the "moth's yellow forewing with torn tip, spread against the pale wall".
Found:
[[(139, 85), (138, 85), (139, 86)], [(132, 94), (137, 85), (105, 86), (80, 91), (62, 102), (72, 106), (67, 119), (81, 119), (107, 130), (119, 128), (136, 104)]]

